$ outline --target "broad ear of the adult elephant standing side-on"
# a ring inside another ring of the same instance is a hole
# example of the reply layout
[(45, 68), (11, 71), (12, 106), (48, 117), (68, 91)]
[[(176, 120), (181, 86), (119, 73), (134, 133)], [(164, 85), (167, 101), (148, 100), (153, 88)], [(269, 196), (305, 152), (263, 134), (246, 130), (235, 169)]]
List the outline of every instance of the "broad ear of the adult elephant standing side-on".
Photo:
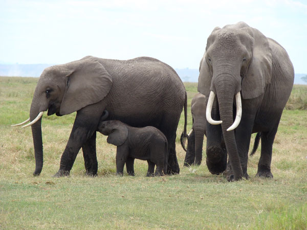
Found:
[(65, 64), (71, 74), (60, 107), (60, 114), (69, 114), (101, 101), (112, 86), (112, 78), (97, 58), (87, 56)]

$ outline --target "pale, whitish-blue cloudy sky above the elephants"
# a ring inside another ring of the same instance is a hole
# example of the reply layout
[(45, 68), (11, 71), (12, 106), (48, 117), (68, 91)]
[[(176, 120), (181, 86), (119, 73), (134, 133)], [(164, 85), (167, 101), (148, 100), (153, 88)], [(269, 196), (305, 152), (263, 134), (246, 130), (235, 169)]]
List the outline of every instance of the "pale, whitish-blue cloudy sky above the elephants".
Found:
[(150, 56), (198, 68), (214, 27), (245, 21), (307, 73), (307, 1), (0, 0), (0, 63)]

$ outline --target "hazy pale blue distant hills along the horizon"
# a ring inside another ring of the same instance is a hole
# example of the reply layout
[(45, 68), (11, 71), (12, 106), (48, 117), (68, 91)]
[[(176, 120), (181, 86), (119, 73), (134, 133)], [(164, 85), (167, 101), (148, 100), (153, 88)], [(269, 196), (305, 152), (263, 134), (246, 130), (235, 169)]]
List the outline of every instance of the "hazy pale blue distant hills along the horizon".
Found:
[[(0, 64), (0, 76), (39, 77), (42, 71), (52, 64)], [(175, 71), (184, 82), (198, 82), (197, 68), (176, 68)], [(307, 74), (295, 74), (294, 84), (306, 85), (302, 77)]]

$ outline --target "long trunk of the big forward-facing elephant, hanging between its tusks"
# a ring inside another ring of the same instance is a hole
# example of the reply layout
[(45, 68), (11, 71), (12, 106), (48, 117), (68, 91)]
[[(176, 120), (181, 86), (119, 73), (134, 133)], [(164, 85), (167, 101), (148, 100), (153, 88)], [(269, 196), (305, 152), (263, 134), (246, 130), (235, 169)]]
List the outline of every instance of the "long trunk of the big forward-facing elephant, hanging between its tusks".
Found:
[[(239, 74), (220, 74), (215, 78), (214, 88), (216, 90), (218, 107), (220, 109), (220, 117), (223, 121), (222, 131), (226, 149), (229, 156), (229, 162), (233, 170), (234, 180), (242, 179), (243, 170), (240, 164), (238, 150), (233, 130), (227, 131), (233, 124), (233, 98), (240, 91), (240, 78), (236, 78)], [(232, 179), (232, 178), (230, 178)]]

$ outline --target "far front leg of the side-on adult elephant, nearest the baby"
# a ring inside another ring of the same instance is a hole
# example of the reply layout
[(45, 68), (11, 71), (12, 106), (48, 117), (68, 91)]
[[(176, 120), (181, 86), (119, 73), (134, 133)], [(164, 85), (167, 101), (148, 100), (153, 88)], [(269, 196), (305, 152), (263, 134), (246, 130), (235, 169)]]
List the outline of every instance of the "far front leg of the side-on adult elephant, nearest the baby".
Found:
[(86, 175), (97, 176), (98, 162), (96, 156), (96, 132), (82, 146)]

